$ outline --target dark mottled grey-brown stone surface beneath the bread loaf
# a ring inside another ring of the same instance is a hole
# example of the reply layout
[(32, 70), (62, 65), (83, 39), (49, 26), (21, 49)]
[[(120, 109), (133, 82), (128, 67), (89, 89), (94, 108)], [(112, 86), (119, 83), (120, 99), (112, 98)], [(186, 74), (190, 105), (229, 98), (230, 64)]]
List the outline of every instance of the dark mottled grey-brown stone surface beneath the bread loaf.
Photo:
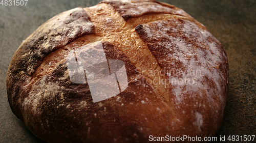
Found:
[[(28, 0), (27, 6), (0, 5), (0, 142), (44, 142), (15, 117), (8, 103), (6, 75), (18, 46), (51, 17), (98, 2)], [(229, 92), (223, 124), (215, 136), (219, 140), (225, 135), (227, 141), (228, 135), (256, 135), (256, 1), (161, 2), (175, 5), (203, 23), (226, 50)]]

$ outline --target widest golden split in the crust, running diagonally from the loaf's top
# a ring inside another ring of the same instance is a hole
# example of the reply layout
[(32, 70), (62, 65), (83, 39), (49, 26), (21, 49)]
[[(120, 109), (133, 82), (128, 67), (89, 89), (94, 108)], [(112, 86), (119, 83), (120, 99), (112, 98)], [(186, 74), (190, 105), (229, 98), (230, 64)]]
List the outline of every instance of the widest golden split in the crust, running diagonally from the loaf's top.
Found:
[[(135, 19), (131, 18), (128, 21), (125, 21), (110, 5), (106, 4), (99, 4), (97, 7), (84, 8), (84, 10), (87, 11), (91, 17), (91, 21), (95, 25), (95, 34), (102, 37), (101, 41), (113, 43), (116, 47), (122, 50), (139, 72), (146, 71), (146, 73), (148, 73), (150, 70), (161, 71), (159, 65), (156, 64), (157, 60), (154, 55), (134, 31), (136, 25), (131, 24), (139, 23), (144, 16)], [(142, 22), (162, 20), (168, 17), (172, 16), (162, 14), (150, 15), (148, 18), (144, 18)], [(108, 20), (112, 21), (109, 22)], [(145, 77), (150, 78), (151, 80), (162, 80), (164, 78), (161, 75)], [(169, 89), (165, 88), (162, 83), (152, 84), (152, 86), (163, 101), (172, 108), (172, 101), (169, 100)]]

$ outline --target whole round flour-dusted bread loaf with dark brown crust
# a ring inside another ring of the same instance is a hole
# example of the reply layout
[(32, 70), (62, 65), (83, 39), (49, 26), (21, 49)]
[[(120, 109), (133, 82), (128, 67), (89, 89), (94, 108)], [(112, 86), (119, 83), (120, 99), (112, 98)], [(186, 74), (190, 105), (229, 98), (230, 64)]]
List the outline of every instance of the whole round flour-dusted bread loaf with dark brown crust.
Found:
[[(101, 55), (109, 70), (96, 68)], [(12, 111), (47, 142), (203, 140), (222, 123), (227, 91), (221, 43), (183, 10), (152, 0), (58, 14), (19, 46), (7, 75)]]

